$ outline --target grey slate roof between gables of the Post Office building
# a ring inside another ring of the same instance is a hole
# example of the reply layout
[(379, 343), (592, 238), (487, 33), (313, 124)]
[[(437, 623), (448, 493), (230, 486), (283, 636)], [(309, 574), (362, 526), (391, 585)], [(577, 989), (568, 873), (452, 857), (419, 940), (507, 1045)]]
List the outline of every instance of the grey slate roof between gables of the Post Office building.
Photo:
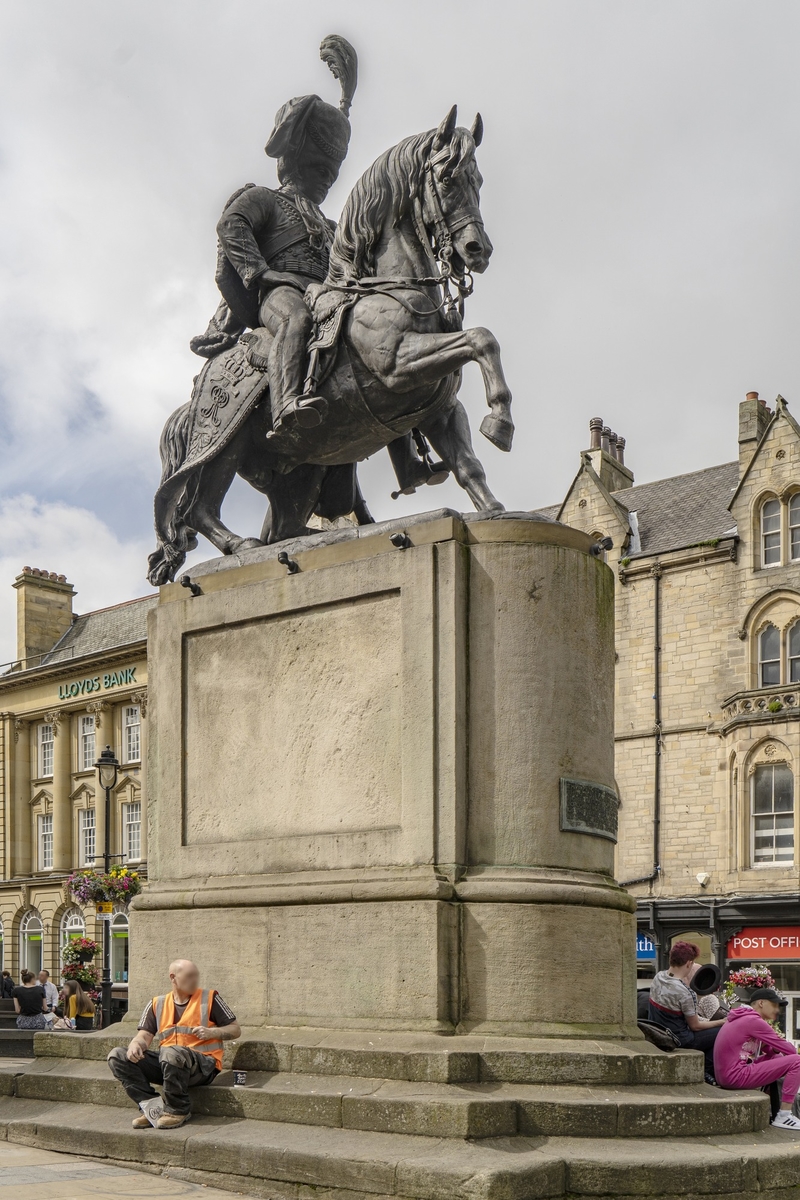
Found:
[(613, 492), (628, 512), (636, 512), (639, 554), (663, 554), (736, 532), (728, 504), (739, 482), (739, 463), (723, 462), (688, 475), (673, 475)]

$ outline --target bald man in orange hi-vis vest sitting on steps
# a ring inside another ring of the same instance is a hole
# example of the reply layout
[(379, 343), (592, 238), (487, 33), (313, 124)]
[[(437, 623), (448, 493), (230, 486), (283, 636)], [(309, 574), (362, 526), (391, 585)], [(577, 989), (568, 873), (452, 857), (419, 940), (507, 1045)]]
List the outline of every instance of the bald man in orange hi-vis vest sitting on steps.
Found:
[[(152, 1124), (145, 1114), (158, 1094), (154, 1084), (163, 1084), (163, 1112), (156, 1128), (185, 1124), (191, 1116), (190, 1087), (210, 1084), (222, 1068), (222, 1043), (241, 1036), (239, 1021), (219, 992), (200, 988), (200, 972), (193, 962), (172, 962), (169, 982), (172, 991), (150, 1001), (128, 1046), (115, 1046), (108, 1056), (112, 1074), (143, 1109), (133, 1121), (134, 1129)], [(161, 1034), (157, 1052), (150, 1049), (156, 1034)]]

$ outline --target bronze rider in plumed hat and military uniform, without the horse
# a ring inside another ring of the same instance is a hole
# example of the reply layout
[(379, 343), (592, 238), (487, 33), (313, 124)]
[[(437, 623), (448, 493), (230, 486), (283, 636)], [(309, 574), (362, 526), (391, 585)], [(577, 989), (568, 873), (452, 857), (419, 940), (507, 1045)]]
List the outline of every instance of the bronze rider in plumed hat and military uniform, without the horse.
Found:
[[(277, 191), (248, 184), (228, 200), (217, 224), (216, 281), (222, 300), (207, 329), (190, 342), (196, 354), (216, 358), (235, 346), (246, 329), (266, 329), (272, 428), (319, 425), (326, 403), (306, 382), (312, 316), (306, 288), (327, 275), (336, 224), (319, 205), (338, 178), (350, 140), (348, 113), (356, 88), (357, 61), (349, 42), (326, 37), (320, 56), (342, 84), (338, 108), (319, 96), (296, 96), (275, 118), (265, 151), (277, 158)], [(251, 361), (258, 361), (258, 340)], [(390, 457), (399, 491), (409, 494), (421, 484), (447, 476), (440, 463), (425, 461), (410, 434), (399, 438)], [(397, 493), (393, 493), (397, 494)]]

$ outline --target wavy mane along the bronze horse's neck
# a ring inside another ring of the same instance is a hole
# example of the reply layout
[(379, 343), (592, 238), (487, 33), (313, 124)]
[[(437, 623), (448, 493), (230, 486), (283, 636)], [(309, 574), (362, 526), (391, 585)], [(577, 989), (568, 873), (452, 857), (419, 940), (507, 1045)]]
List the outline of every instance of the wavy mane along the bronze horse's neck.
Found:
[(432, 154), (437, 130), (415, 133), (375, 158), (350, 192), (336, 227), (327, 282), (344, 283), (375, 274), (374, 251), (386, 222), (396, 224), (421, 198), (425, 164), (444, 162), (458, 175), (474, 162), (468, 130), (453, 130), (450, 143)]

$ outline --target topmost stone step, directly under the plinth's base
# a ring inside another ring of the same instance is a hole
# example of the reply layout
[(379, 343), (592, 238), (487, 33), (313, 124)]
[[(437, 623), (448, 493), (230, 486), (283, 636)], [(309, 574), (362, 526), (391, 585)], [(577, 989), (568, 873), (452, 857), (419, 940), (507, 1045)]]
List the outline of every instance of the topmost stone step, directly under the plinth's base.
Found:
[[(120, 1033), (37, 1033), (41, 1056), (104, 1058)], [(649, 1042), (566, 1038), (437, 1037), (342, 1030), (245, 1031), (227, 1043), (225, 1066), (309, 1075), (362, 1075), (411, 1082), (702, 1084), (696, 1050), (664, 1054)]]

